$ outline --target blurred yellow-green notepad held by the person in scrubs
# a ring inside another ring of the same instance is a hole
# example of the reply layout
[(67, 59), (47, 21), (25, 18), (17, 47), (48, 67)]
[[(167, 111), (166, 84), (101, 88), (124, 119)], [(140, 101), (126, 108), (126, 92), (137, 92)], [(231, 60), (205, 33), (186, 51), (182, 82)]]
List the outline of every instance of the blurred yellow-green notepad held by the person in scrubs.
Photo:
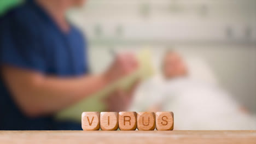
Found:
[(92, 94), (90, 97), (79, 101), (79, 103), (62, 110), (57, 113), (56, 119), (80, 122), (81, 114), (84, 111), (104, 111), (105, 105), (101, 102), (101, 99), (107, 97), (108, 94), (113, 92), (116, 88), (129, 89), (136, 80), (144, 80), (153, 75), (152, 55), (150, 51), (140, 51), (137, 58), (139, 69), (135, 71), (135, 73), (110, 84), (102, 89), (102, 91)]

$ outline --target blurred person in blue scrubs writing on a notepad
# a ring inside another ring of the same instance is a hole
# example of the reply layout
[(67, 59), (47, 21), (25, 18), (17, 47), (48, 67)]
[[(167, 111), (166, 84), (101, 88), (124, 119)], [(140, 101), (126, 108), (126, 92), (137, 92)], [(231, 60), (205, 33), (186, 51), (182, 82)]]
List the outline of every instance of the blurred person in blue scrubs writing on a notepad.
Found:
[(88, 74), (86, 41), (65, 18), (84, 2), (27, 0), (1, 17), (0, 130), (80, 130), (54, 113), (137, 68), (123, 53), (105, 73)]

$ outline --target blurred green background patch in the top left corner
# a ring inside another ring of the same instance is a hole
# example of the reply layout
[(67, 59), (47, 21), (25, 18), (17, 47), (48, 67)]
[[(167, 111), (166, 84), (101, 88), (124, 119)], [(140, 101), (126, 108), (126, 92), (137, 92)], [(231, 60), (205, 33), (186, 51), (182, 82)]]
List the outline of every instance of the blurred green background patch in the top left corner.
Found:
[(0, 0), (0, 16), (2, 16), (5, 11), (23, 2), (22, 0)]

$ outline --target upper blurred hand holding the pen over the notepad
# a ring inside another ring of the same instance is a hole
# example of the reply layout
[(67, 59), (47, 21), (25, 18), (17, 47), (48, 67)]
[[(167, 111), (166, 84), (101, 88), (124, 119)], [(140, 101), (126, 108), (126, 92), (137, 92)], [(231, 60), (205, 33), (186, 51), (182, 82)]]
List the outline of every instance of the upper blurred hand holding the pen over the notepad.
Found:
[(104, 73), (104, 77), (108, 82), (113, 82), (126, 75), (131, 74), (138, 68), (138, 62), (132, 53), (123, 53), (116, 56), (112, 65)]

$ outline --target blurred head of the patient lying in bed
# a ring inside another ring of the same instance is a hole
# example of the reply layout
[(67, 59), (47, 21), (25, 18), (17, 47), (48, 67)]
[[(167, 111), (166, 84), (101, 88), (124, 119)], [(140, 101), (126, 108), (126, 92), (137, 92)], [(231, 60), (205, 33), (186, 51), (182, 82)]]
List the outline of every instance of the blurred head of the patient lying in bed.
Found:
[(182, 77), (188, 73), (187, 65), (179, 53), (168, 51), (162, 61), (162, 73), (166, 79)]

